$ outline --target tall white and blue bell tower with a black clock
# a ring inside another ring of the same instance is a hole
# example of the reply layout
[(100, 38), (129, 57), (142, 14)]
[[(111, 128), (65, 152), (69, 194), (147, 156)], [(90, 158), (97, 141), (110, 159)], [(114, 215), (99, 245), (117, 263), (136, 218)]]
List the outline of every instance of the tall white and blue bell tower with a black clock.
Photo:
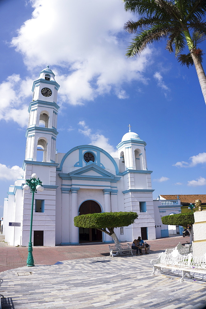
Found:
[(33, 83), (33, 99), (28, 109), (26, 160), (55, 163), (59, 87), (49, 66)]

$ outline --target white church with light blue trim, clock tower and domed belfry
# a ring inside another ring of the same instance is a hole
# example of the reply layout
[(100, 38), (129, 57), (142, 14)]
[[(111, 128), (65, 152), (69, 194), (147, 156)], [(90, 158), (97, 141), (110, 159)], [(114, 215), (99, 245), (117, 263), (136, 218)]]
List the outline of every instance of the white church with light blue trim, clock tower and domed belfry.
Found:
[[(29, 241), (31, 196), (23, 190), (26, 179), (36, 173), (43, 181), (43, 192), (35, 193), (33, 245), (111, 242), (96, 229), (77, 228), (78, 214), (134, 211), (134, 224), (116, 229), (120, 241), (155, 239), (155, 217), (150, 174), (147, 170), (146, 143), (129, 130), (117, 145), (118, 158), (91, 145), (76, 146), (66, 154), (56, 154), (57, 92), (59, 84), (47, 66), (34, 81), (26, 131), (24, 175), (10, 186), (4, 204), (5, 241), (27, 246)], [(60, 148), (60, 146), (59, 146)], [(15, 229), (8, 222), (20, 222)]]

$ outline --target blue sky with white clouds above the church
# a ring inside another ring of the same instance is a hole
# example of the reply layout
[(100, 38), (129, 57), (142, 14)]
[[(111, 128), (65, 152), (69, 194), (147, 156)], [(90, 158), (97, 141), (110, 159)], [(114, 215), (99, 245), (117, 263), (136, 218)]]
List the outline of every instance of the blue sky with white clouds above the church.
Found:
[[(123, 26), (137, 17), (121, 0), (0, 1), (0, 217), (22, 175), (32, 84), (47, 65), (60, 84), (58, 152), (92, 144), (116, 157), (130, 124), (147, 143), (154, 199), (205, 194), (206, 107), (196, 70), (181, 66), (165, 41), (128, 59), (133, 35)], [(200, 48), (206, 53), (206, 42)]]

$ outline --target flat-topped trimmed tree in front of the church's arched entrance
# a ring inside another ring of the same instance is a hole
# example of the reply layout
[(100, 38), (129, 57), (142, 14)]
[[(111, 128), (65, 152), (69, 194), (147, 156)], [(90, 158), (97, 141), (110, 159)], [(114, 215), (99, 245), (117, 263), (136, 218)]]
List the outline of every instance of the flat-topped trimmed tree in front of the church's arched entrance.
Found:
[(96, 228), (99, 231), (111, 236), (115, 245), (119, 244), (117, 235), (114, 233), (115, 227), (129, 226), (137, 219), (138, 214), (130, 211), (81, 214), (74, 217), (74, 225), (84, 228)]

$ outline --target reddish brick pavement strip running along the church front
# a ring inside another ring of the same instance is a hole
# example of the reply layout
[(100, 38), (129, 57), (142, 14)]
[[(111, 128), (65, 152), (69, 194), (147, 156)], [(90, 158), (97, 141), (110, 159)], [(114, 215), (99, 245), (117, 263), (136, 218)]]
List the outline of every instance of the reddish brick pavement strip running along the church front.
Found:
[[(0, 235), (0, 273), (26, 265), (28, 248), (9, 246)], [(148, 240), (151, 251), (174, 248), (179, 242), (189, 242), (189, 237), (180, 236)], [(131, 243), (131, 242), (130, 242)], [(105, 243), (81, 244), (74, 246), (33, 247), (34, 264), (53, 265), (57, 261), (75, 260), (97, 256), (108, 256), (109, 247)]]

